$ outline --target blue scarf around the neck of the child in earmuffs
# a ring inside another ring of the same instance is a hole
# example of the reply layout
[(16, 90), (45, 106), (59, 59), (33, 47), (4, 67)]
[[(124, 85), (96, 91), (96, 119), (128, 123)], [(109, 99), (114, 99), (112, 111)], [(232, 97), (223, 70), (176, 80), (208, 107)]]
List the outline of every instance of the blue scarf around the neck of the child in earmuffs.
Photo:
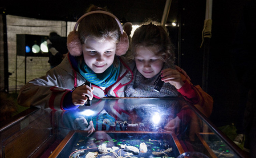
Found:
[(80, 68), (80, 63), (78, 63), (78, 70), (80, 74), (85, 77), (85, 79), (91, 82), (94, 85), (98, 85), (101, 87), (109, 87), (114, 84), (119, 75), (120, 70), (120, 61), (118, 59), (118, 67), (115, 68), (112, 64), (108, 69), (106, 69), (103, 73), (94, 73), (92, 69), (90, 69), (85, 62), (83, 61)]

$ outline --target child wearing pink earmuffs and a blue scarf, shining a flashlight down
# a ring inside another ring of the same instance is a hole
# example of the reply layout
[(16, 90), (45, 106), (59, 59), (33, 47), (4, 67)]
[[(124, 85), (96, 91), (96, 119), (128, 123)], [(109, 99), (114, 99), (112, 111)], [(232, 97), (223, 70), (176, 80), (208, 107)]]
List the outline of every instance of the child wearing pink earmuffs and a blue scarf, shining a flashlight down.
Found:
[[(129, 42), (116, 16), (92, 5), (77, 20), (67, 45), (69, 53), (60, 65), (20, 89), (20, 105), (67, 110), (84, 105), (88, 98), (124, 97), (133, 74), (118, 57), (126, 53)], [(87, 81), (92, 88), (84, 84)]]

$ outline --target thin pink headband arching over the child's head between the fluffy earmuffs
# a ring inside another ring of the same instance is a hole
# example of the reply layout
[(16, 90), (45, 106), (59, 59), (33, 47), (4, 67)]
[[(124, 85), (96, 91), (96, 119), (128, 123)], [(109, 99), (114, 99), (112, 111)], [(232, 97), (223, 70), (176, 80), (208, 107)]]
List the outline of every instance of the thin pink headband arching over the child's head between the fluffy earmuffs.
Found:
[(86, 14), (84, 14), (83, 16), (81, 16), (78, 20), (77, 20), (77, 23), (75, 24), (75, 27), (74, 27), (74, 31), (77, 31), (77, 26), (78, 24), (80, 23), (80, 21), (85, 17), (85, 16), (88, 16), (90, 14), (96, 14), (96, 13), (101, 13), (101, 14), (106, 14), (108, 16), (111, 16), (113, 17), (117, 23), (118, 23), (118, 26), (120, 28), (120, 32), (121, 34), (123, 34), (123, 28), (122, 28), (122, 24), (121, 22), (118, 20), (118, 18), (116, 16), (114, 16), (113, 14), (111, 14), (110, 12), (106, 12), (106, 11), (102, 11), (102, 10), (95, 10), (95, 11), (92, 11), (92, 12), (87, 12)]

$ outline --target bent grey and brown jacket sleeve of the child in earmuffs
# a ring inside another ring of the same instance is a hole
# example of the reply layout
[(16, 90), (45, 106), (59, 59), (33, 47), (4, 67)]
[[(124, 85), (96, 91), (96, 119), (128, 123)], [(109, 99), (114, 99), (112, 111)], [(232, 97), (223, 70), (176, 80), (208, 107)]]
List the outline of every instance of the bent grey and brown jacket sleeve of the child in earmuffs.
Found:
[(17, 101), (22, 106), (65, 110), (62, 102), (73, 85), (74, 77), (57, 66), (49, 70), (45, 76), (25, 84), (20, 89)]

